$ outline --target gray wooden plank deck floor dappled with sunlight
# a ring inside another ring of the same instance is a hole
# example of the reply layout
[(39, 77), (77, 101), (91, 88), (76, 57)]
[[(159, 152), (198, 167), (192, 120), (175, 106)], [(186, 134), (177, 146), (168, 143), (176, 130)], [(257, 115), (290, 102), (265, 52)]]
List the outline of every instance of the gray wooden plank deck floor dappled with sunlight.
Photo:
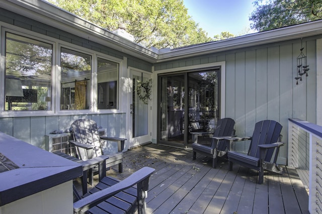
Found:
[(203, 156), (192, 160), (192, 151), (150, 144), (124, 153), (124, 172), (117, 166), (107, 175), (119, 179), (143, 166), (155, 169), (150, 178), (147, 213), (309, 213), (308, 194), (295, 169), (265, 172), (264, 184), (257, 173), (220, 161), (216, 169)]

